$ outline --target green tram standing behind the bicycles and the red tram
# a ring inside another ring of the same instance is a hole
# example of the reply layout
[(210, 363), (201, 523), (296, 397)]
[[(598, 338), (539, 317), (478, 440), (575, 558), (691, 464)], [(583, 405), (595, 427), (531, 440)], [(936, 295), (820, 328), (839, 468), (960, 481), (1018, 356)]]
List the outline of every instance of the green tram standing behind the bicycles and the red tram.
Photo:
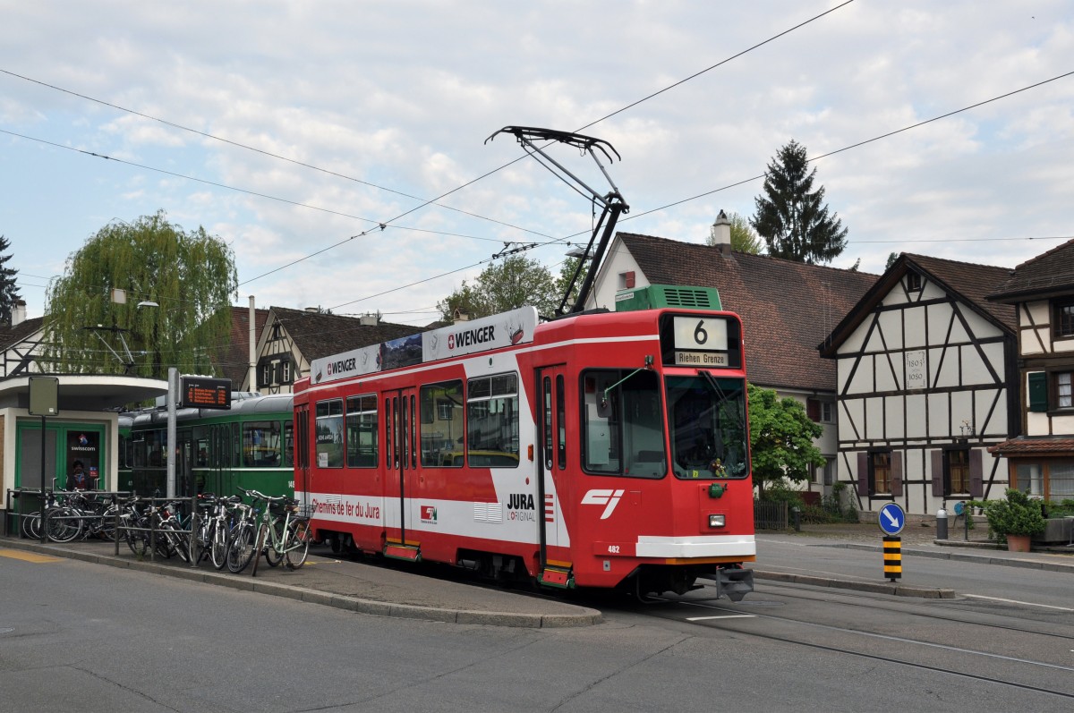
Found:
[[(182, 408), (175, 414), (175, 494), (234, 495), (253, 489), (294, 496), (291, 394), (232, 392), (231, 409)], [(168, 409), (119, 414), (119, 490), (168, 492)]]

